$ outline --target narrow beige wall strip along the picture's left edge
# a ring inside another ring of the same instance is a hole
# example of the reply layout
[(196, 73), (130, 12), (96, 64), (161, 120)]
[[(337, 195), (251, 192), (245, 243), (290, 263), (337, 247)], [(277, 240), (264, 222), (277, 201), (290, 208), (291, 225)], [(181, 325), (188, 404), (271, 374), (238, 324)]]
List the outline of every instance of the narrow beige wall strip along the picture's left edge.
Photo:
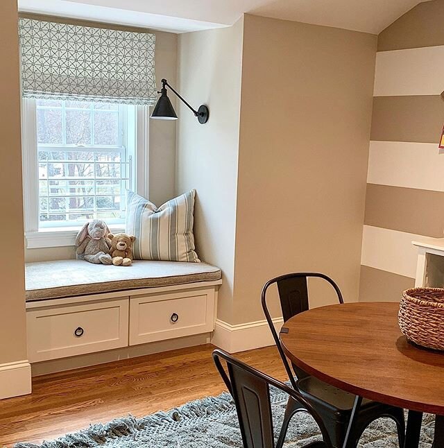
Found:
[(17, 1), (0, 2), (0, 229), (10, 255), (1, 258), (0, 364), (26, 359), (22, 157)]

